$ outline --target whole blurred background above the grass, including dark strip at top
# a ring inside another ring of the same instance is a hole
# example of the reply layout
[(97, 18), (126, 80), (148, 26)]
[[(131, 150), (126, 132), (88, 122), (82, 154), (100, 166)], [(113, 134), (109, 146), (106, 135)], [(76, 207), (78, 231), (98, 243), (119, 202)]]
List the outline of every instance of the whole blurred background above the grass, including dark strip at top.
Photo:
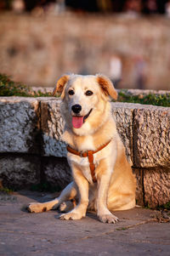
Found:
[(0, 0), (0, 73), (54, 87), (66, 72), (170, 89), (170, 1)]

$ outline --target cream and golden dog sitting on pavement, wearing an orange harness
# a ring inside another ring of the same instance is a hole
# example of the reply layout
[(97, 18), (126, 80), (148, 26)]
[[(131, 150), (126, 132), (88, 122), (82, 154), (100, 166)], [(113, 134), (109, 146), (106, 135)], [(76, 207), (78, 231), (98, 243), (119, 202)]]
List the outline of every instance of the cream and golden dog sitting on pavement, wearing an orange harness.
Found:
[[(103, 75), (64, 75), (54, 88), (61, 97), (65, 119), (62, 135), (73, 181), (58, 198), (31, 203), (28, 211), (63, 211), (60, 219), (82, 219), (87, 209), (97, 212), (103, 223), (116, 223), (112, 213), (135, 207), (136, 180), (116, 131), (111, 98), (117, 94), (111, 80)], [(78, 203), (76, 204), (78, 200)]]

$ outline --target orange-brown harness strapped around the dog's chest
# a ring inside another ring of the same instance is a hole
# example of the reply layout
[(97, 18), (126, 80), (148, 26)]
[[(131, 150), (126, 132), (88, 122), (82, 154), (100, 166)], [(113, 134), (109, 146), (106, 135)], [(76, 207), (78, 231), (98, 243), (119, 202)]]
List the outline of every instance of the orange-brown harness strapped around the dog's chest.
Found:
[(95, 177), (94, 154), (103, 150), (103, 148), (105, 148), (105, 146), (108, 145), (110, 142), (111, 140), (107, 142), (105, 145), (100, 146), (97, 151), (85, 151), (85, 152), (76, 151), (72, 149), (70, 145), (67, 145), (67, 151), (69, 151), (71, 154), (74, 154), (80, 157), (88, 157), (89, 167), (90, 167), (90, 171), (91, 171), (91, 175), (94, 183), (97, 181)]

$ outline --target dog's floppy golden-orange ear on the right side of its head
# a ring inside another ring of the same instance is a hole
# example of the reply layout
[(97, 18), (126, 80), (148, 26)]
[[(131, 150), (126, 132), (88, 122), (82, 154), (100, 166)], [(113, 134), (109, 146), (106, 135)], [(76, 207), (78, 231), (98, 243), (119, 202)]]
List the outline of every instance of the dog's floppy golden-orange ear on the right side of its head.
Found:
[(103, 90), (104, 94), (106, 96), (111, 96), (112, 99), (117, 99), (117, 93), (116, 89), (113, 86), (113, 83), (108, 77), (105, 77), (103, 75), (96, 75), (97, 82), (99, 83), (100, 88)]

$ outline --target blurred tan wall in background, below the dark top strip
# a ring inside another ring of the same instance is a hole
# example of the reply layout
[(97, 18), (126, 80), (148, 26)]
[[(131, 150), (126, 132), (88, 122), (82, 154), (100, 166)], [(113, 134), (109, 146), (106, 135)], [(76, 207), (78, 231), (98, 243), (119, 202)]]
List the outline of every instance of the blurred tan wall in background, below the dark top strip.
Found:
[(34, 86), (102, 72), (117, 88), (170, 89), (170, 20), (1, 14), (0, 72)]

